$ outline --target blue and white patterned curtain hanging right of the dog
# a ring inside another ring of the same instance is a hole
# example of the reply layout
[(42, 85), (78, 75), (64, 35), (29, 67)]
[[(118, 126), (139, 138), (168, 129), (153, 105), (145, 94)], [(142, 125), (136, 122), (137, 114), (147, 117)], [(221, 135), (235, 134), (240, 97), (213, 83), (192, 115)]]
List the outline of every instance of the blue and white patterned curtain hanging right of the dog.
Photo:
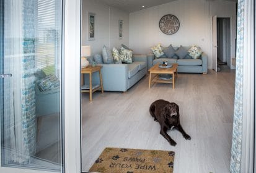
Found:
[(234, 100), (234, 122), (231, 148), (231, 172), (240, 173), (242, 156), (242, 116), (243, 116), (243, 57), (244, 57), (244, 0), (237, 4), (237, 57), (236, 91)]

